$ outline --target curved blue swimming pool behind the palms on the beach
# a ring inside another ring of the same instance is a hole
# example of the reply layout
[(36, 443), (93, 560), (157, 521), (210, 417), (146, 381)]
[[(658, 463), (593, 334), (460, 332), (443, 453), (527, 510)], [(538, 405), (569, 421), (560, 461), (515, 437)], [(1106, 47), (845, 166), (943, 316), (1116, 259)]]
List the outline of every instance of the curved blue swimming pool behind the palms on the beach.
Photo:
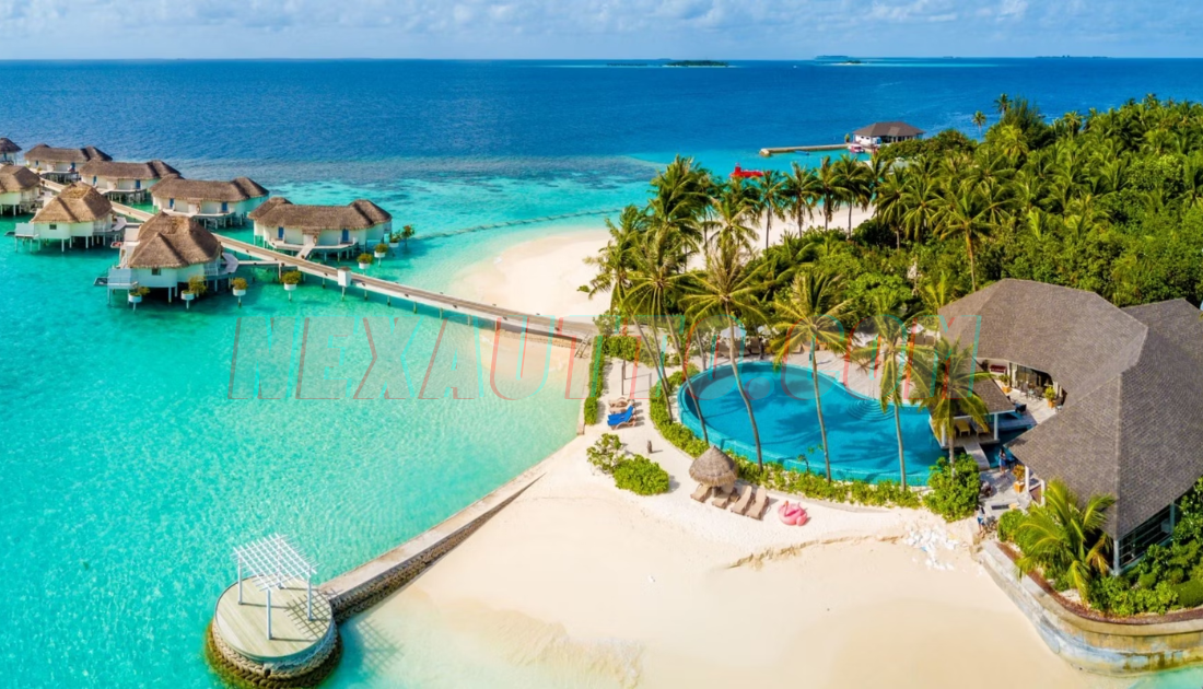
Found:
[[(764, 458), (782, 463), (788, 469), (810, 469), (822, 474), (823, 440), (811, 372), (794, 366), (775, 368), (769, 362), (745, 362), (740, 364), (740, 376), (752, 398)], [(695, 375), (693, 387), (701, 403), (710, 441), (725, 451), (754, 459), (752, 427), (730, 367), (721, 366)], [(832, 477), (897, 481), (894, 410), (882, 411), (876, 399), (853, 394), (823, 375), (819, 375), (819, 394)], [(677, 402), (682, 410), (681, 421), (700, 438), (697, 400), (685, 385), (677, 391)], [(902, 409), (902, 445), (907, 482), (912, 485), (925, 483), (929, 470), (943, 455), (928, 418), (928, 412), (921, 409)]]

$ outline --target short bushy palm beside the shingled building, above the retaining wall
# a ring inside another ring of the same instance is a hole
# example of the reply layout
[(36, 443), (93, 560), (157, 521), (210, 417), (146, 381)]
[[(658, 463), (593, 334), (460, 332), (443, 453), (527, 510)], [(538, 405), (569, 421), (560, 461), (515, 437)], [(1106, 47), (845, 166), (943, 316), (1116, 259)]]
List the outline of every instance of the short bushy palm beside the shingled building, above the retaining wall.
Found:
[(1027, 574), (1044, 568), (1078, 589), (1083, 600), (1095, 575), (1108, 571), (1110, 536), (1103, 530), (1112, 495), (1092, 495), (1085, 507), (1065, 483), (1054, 479), (1044, 487), (1044, 504), (1033, 505), (1019, 523), (1015, 540), (1024, 551), (1015, 562)]

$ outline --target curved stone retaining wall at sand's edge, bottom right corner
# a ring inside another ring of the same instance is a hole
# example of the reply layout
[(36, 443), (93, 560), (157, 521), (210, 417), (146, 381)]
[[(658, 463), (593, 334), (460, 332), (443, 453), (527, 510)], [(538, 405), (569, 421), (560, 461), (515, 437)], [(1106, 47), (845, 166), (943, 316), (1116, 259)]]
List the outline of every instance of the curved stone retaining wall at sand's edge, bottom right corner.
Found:
[(985, 542), (978, 559), (1053, 653), (1075, 667), (1125, 676), (1203, 661), (1203, 619), (1089, 619), (1067, 608), (1031, 577), (1018, 577), (1015, 564), (996, 541)]

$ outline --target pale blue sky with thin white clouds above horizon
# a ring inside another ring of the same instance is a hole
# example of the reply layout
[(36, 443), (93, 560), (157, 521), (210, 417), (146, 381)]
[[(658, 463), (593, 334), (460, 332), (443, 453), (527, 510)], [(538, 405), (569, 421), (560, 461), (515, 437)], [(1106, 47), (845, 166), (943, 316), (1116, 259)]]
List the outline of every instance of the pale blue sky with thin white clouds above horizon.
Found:
[(1198, 0), (0, 0), (0, 59), (1203, 57)]

